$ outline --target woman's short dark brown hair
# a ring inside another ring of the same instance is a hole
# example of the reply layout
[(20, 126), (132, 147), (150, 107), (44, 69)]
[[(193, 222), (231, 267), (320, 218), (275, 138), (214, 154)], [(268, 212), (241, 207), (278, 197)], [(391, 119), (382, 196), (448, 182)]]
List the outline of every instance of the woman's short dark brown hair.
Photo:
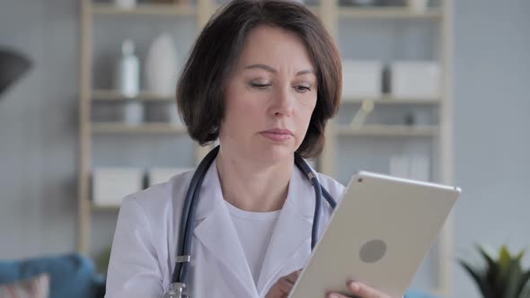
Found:
[(181, 118), (200, 145), (217, 139), (225, 113), (225, 83), (243, 52), (249, 31), (269, 25), (295, 32), (316, 67), (317, 101), (297, 153), (322, 153), (327, 120), (339, 109), (340, 54), (328, 31), (303, 4), (286, 0), (234, 0), (219, 9), (200, 32), (177, 86)]

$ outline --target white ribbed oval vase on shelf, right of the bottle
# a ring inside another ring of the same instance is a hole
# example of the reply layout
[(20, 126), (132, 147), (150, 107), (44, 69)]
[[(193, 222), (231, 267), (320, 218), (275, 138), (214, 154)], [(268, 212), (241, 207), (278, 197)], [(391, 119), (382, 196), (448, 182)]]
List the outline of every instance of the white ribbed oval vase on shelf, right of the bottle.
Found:
[(169, 34), (158, 36), (147, 51), (145, 65), (146, 89), (161, 96), (175, 93), (178, 76), (175, 44)]

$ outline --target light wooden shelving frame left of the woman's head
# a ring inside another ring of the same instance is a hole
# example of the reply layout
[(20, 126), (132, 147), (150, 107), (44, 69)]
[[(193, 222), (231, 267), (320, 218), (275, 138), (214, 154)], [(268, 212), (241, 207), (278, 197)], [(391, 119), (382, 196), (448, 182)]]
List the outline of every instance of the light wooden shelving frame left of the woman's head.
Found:
[[(200, 29), (208, 22), (214, 12), (210, 0), (198, 0), (191, 4), (137, 4), (131, 9), (123, 9), (113, 4), (93, 3), (93, 0), (81, 2), (81, 47), (80, 47), (80, 110), (79, 110), (79, 174), (78, 174), (78, 239), (80, 252), (91, 254), (93, 212), (114, 212), (119, 206), (96, 206), (92, 202), (90, 180), (93, 161), (93, 136), (100, 135), (181, 135), (186, 134), (185, 127), (169, 123), (146, 123), (128, 126), (121, 123), (92, 122), (91, 113), (96, 102), (124, 101), (174, 101), (171, 96), (160, 96), (149, 92), (140, 92), (133, 98), (127, 98), (114, 90), (93, 89), (93, 25), (98, 17), (128, 16), (123, 22), (137, 22), (140, 16), (163, 16), (167, 18), (195, 17)], [(132, 18), (131, 18), (132, 17)], [(196, 160), (199, 162), (208, 153), (208, 147), (196, 146)]]

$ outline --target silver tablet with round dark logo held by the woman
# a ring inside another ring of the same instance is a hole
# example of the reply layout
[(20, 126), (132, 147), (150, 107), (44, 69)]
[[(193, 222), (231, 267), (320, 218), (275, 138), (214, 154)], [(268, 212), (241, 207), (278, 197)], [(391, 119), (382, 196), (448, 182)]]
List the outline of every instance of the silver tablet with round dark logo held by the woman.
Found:
[(347, 280), (402, 297), (459, 196), (459, 188), (358, 172), (288, 297), (350, 295)]

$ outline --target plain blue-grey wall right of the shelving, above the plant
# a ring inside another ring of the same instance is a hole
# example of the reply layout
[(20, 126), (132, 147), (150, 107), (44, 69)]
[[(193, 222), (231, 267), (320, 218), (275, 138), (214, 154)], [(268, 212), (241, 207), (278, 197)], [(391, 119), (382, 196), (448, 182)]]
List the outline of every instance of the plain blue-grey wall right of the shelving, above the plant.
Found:
[[(530, 245), (530, 2), (455, 0), (455, 253)], [(530, 260), (530, 257), (526, 259)], [(530, 263), (530, 261), (528, 262)], [(458, 269), (455, 297), (477, 297)]]

